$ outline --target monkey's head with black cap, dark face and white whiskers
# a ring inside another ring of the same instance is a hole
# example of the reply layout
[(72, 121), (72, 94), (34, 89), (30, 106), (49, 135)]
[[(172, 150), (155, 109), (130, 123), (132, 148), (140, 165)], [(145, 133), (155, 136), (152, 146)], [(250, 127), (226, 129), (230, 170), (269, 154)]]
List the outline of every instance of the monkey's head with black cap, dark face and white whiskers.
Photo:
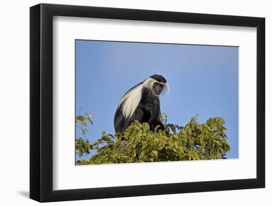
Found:
[(166, 83), (166, 79), (161, 75), (152, 75), (144, 82), (144, 86), (149, 88), (155, 95), (160, 95), (161, 92), (166, 89), (169, 91), (169, 85)]

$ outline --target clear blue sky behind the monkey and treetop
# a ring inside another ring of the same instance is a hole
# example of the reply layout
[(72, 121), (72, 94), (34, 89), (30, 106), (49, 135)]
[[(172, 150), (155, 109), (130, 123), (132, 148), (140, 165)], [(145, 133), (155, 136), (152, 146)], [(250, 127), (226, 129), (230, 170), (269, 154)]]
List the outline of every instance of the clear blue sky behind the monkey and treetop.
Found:
[[(227, 158), (238, 158), (238, 47), (230, 46), (76, 40), (76, 114), (82, 108), (81, 114), (93, 115), (91, 142), (102, 130), (115, 133), (120, 98), (153, 74), (170, 85), (160, 98), (168, 123), (184, 125), (195, 114), (200, 123), (223, 117), (231, 148)], [(82, 136), (78, 128), (76, 136)]]

